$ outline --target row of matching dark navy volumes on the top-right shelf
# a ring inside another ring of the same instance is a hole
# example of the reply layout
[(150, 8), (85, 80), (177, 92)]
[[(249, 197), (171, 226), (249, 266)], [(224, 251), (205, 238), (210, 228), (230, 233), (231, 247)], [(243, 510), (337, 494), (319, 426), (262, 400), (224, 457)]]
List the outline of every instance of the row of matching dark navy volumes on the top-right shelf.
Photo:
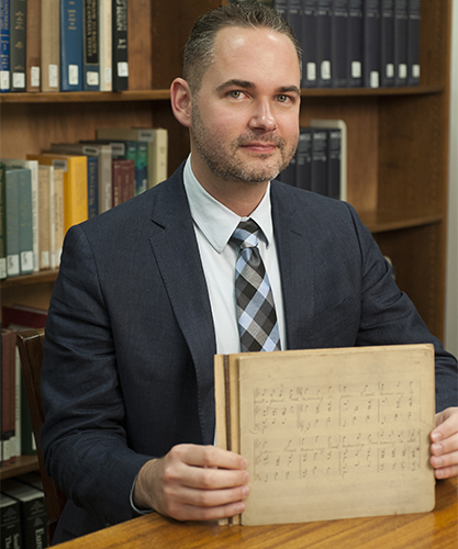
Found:
[(273, 0), (302, 45), (302, 88), (420, 83), (421, 0)]

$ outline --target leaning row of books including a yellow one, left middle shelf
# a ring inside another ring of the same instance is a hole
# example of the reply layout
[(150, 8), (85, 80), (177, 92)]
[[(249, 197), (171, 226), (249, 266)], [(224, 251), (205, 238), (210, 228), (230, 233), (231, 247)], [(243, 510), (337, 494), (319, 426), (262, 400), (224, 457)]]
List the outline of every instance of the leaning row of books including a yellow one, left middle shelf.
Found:
[(165, 180), (167, 155), (167, 130), (101, 128), (0, 158), (0, 279), (58, 267), (68, 228)]

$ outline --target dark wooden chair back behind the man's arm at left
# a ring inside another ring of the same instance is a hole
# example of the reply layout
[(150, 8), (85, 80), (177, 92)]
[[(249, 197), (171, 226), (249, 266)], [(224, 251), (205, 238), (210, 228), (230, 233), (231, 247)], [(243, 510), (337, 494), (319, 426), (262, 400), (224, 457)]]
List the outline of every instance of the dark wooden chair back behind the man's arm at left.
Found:
[(54, 481), (46, 474), (41, 432), (45, 415), (43, 412), (42, 396), (40, 393), (40, 378), (42, 373), (42, 362), (43, 362), (43, 341), (45, 338), (44, 329), (32, 329), (27, 332), (18, 333), (16, 341), (19, 354), (21, 357), (22, 365), (22, 378), (24, 380), (25, 394), (27, 396), (27, 403), (30, 408), (30, 414), (32, 418), (33, 435), (35, 437), (36, 452), (40, 464), (40, 474), (43, 481), (43, 489), (45, 493), (45, 505), (47, 514), (47, 535), (48, 542), (51, 545), (54, 531), (57, 526), (57, 520), (64, 506), (67, 502), (67, 496), (64, 495), (60, 490), (54, 484)]

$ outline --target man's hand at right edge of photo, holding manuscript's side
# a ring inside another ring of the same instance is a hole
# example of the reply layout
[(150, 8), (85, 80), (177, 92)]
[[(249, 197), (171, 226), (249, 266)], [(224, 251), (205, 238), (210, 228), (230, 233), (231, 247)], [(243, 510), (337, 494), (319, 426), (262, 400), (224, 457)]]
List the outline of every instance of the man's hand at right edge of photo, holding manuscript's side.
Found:
[(436, 479), (458, 475), (458, 407), (436, 414), (436, 428), (431, 433), (431, 464)]

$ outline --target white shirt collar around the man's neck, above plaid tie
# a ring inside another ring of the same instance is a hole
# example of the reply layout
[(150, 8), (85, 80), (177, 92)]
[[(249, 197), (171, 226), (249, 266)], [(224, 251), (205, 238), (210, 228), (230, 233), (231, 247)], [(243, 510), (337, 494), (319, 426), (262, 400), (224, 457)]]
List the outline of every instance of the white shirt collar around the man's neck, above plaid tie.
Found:
[[(221, 254), (241, 220), (246, 217), (239, 217), (205, 191), (192, 172), (191, 155), (185, 165), (183, 182), (193, 222), (211, 246)], [(262, 200), (249, 217), (259, 225), (268, 248), (273, 239), (270, 182)]]

